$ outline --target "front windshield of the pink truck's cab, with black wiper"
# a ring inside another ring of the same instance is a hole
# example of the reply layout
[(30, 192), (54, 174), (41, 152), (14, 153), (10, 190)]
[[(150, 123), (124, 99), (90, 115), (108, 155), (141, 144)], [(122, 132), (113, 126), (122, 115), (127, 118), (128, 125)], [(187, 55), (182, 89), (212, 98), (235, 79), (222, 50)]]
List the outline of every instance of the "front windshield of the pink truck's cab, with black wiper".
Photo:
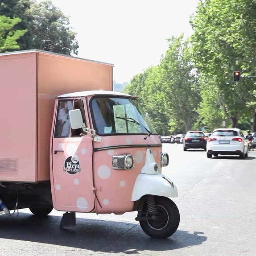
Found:
[(156, 133), (137, 99), (94, 97), (91, 111), (97, 134)]

